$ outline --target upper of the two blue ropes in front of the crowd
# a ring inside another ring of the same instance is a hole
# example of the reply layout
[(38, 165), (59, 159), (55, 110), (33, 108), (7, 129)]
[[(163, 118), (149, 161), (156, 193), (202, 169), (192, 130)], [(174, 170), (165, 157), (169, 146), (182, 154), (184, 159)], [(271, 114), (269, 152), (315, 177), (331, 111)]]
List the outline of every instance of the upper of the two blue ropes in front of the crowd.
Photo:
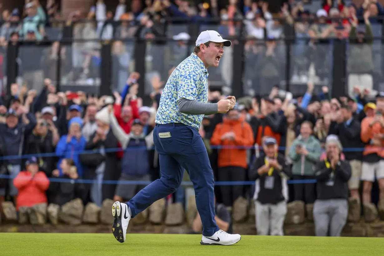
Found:
[[(155, 149), (152, 147), (152, 149)], [(211, 146), (211, 149), (255, 149), (254, 146)], [(262, 150), (262, 147), (258, 147), (259, 150)], [(119, 151), (133, 151), (133, 150), (147, 150), (146, 147), (129, 147), (125, 150), (122, 150), (121, 148), (110, 148), (110, 149), (104, 149), (104, 152), (106, 153), (113, 153), (113, 152), (119, 152)], [(280, 151), (285, 150), (285, 147), (279, 147)], [(381, 150), (384, 150), (381, 149)], [(320, 150), (319, 152), (323, 152), (324, 150)], [(344, 148), (343, 152), (362, 152), (364, 151), (364, 148)], [(100, 149), (91, 149), (91, 150), (74, 150), (73, 154), (83, 155), (83, 154), (94, 154), (94, 153), (101, 153)], [(28, 159), (30, 157), (62, 157), (62, 155), (56, 154), (55, 152), (52, 153), (42, 153), (42, 154), (25, 154), (25, 155), (7, 155), (0, 157), (1, 160), (11, 160), (11, 159)]]

